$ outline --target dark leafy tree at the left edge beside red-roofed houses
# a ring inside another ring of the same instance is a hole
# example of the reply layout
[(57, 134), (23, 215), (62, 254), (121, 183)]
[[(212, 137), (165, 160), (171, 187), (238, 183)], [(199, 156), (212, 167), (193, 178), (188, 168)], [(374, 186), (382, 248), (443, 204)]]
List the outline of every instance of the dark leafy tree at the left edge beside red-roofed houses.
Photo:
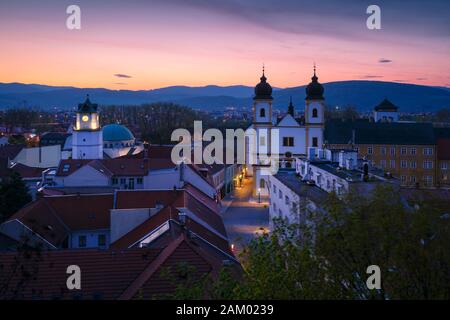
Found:
[(17, 172), (12, 172), (0, 185), (0, 221), (8, 219), (30, 201), (28, 187)]

